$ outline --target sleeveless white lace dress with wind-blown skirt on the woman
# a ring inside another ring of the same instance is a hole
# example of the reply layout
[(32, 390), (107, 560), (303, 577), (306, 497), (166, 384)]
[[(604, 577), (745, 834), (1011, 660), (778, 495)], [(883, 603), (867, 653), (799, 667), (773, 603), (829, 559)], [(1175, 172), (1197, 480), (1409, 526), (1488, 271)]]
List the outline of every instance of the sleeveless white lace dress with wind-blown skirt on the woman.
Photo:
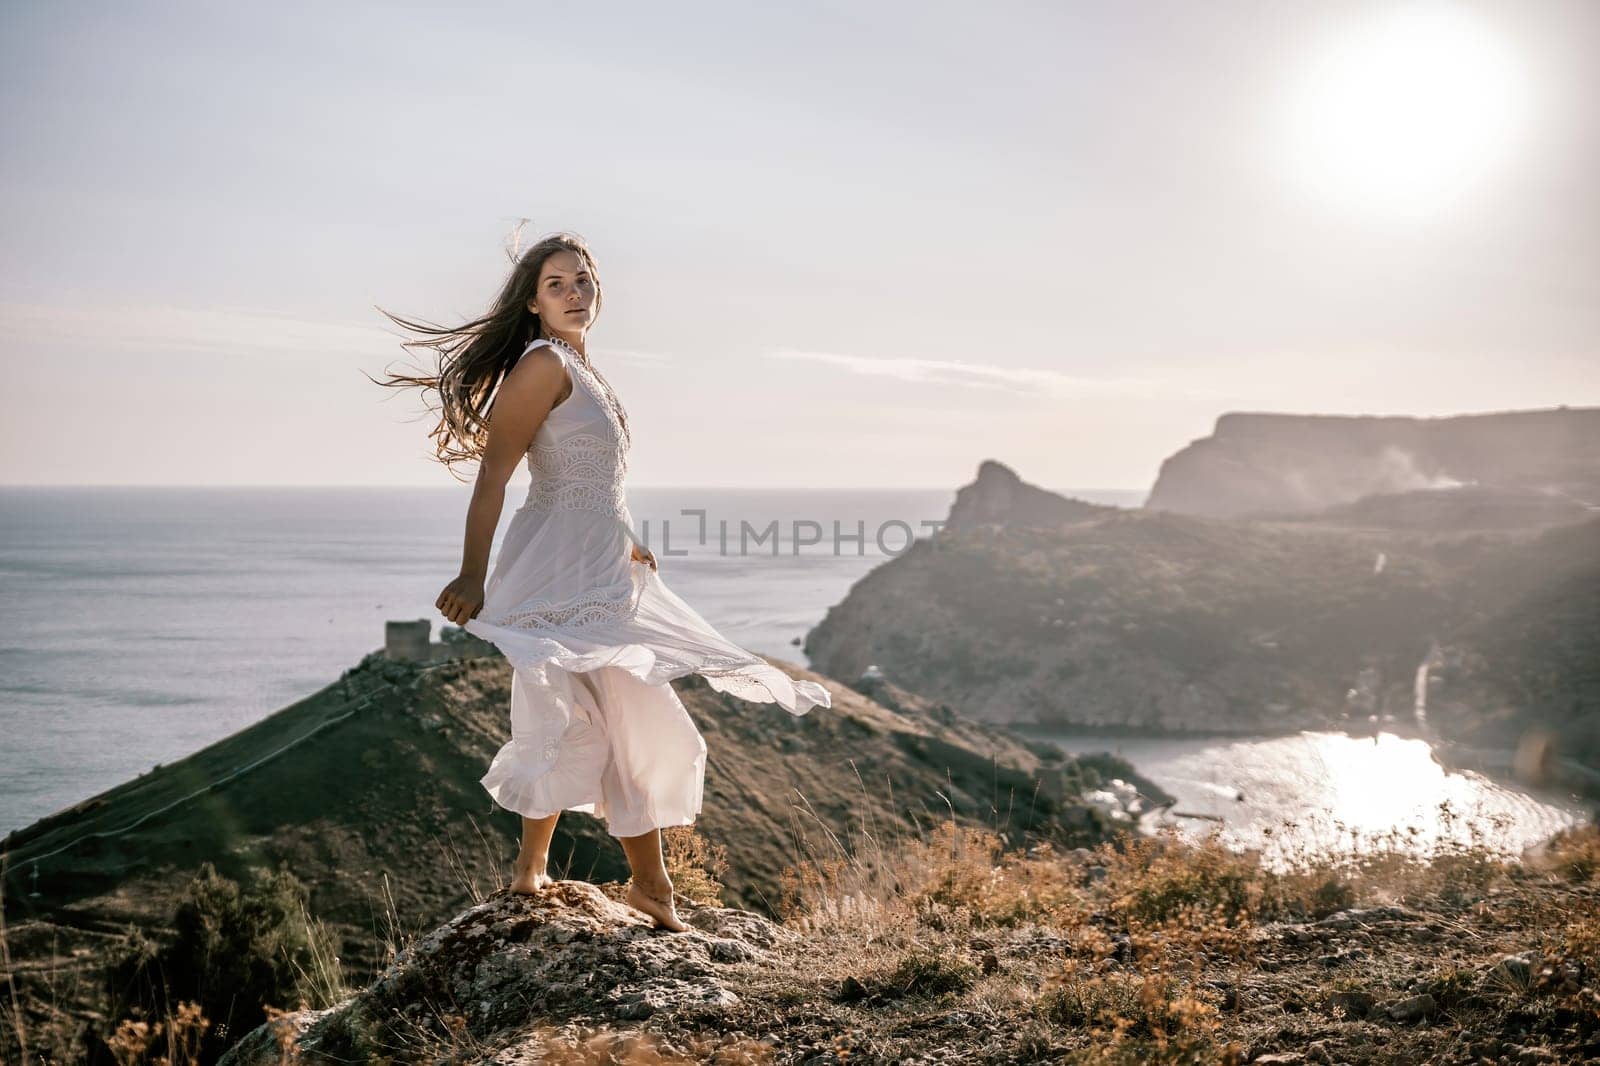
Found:
[(613, 836), (690, 824), (706, 743), (670, 682), (701, 674), (741, 699), (800, 715), (829, 691), (741, 648), (632, 559), (622, 493), (629, 434), (611, 391), (563, 341), (571, 394), (528, 448), (533, 483), (501, 539), (483, 607), (462, 626), (514, 667), (512, 738), (483, 786), (528, 818), (592, 812)]

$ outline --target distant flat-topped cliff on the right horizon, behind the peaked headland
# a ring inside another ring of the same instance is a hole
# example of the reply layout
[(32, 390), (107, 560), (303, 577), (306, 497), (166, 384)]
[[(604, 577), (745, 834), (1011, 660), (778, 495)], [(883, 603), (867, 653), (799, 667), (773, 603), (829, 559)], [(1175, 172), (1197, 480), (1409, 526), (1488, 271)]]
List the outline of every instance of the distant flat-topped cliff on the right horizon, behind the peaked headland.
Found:
[(1600, 503), (1600, 408), (1379, 418), (1232, 411), (1162, 463), (1146, 507), (1309, 512), (1374, 493), (1477, 485)]

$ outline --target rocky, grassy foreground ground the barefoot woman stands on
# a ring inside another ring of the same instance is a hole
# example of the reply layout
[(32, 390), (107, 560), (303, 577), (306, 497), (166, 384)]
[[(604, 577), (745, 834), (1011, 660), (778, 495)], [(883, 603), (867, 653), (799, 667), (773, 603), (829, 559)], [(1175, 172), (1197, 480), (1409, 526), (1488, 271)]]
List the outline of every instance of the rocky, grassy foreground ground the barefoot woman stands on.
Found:
[[(781, 922), (624, 885), (496, 893), (226, 1063), (1576, 1063), (1600, 1055), (1600, 844), (1262, 871), (1176, 840), (1003, 855), (947, 828)], [(682, 882), (680, 882), (682, 884)]]

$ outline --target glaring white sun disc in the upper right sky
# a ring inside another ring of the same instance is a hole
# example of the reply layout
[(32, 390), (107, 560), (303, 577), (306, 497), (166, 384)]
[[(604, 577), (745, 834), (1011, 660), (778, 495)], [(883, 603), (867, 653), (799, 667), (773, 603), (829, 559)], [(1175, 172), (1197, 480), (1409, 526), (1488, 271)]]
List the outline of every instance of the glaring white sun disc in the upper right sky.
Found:
[(1450, 210), (1512, 155), (1525, 96), (1515, 54), (1470, 11), (1394, 8), (1307, 61), (1288, 94), (1288, 160), (1344, 208)]

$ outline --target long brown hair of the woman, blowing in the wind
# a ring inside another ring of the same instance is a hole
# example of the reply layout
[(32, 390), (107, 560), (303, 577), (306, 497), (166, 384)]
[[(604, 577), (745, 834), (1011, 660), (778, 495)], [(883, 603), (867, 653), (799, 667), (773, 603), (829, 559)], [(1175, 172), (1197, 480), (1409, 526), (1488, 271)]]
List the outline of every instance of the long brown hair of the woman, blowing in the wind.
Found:
[[(514, 230), (514, 245), (507, 251), (512, 261), (510, 277), (506, 279), (486, 315), (450, 328), (402, 319), (378, 307), (402, 328), (424, 335), (422, 339), (402, 341), (400, 344), (406, 349), (430, 347), (437, 351), (438, 370), (432, 375), (389, 375), (384, 381), (368, 375), (368, 379), (387, 387), (419, 386), (424, 403), (429, 403), (430, 408), (434, 408), (430, 400), (437, 399), (438, 426), (429, 432), (429, 437), (434, 439), (435, 456), (451, 474), (456, 472), (456, 463), (470, 463), (483, 456), (483, 448), (488, 443), (488, 416), (501, 381), (506, 379), (530, 343), (547, 336), (539, 315), (528, 311), (544, 261), (558, 251), (576, 253), (595, 282), (595, 317), (600, 315), (603, 304), (600, 272), (595, 267), (594, 253), (589, 251), (582, 237), (571, 232), (549, 234), (518, 254), (515, 238), (520, 232), (522, 224)], [(592, 363), (589, 363), (589, 370), (611, 394), (626, 435), (629, 432), (627, 413), (622, 410), (621, 400), (616, 399), (611, 383), (600, 376)]]

